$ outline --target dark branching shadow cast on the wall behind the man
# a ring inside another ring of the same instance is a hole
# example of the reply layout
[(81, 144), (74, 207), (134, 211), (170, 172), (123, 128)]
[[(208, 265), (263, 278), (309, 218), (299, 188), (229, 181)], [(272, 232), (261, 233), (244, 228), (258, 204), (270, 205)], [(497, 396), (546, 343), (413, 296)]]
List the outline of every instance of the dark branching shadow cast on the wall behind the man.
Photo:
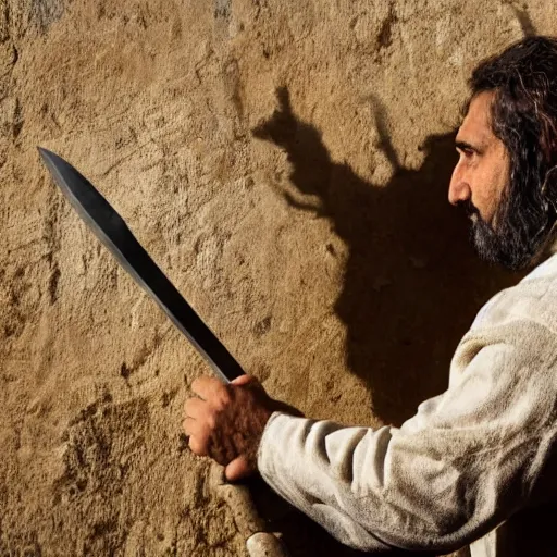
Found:
[(277, 97), (278, 109), (252, 133), (287, 152), (288, 202), (330, 219), (349, 249), (335, 304), (347, 327), (347, 363), (368, 385), (374, 414), (398, 425), (446, 388), (450, 358), (474, 314), (517, 276), (478, 260), (466, 218), (447, 201), (454, 134), (430, 136), (421, 168), (406, 169), (386, 133), (385, 111), (372, 100), (394, 170), (386, 186), (375, 187), (331, 160), (320, 132), (295, 116), (286, 88)]

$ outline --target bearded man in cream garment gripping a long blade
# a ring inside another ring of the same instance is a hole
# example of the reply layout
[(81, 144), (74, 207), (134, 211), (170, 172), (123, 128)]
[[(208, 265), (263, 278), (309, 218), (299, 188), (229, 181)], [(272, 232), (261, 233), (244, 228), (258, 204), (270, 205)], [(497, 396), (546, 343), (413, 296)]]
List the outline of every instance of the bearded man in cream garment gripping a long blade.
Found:
[[(470, 215), (481, 257), (529, 268), (556, 222), (557, 40), (524, 39), (481, 63), (470, 84), (449, 201)], [(557, 256), (482, 308), (448, 389), (400, 428), (293, 416), (247, 375), (193, 388), (191, 450), (231, 481), (259, 471), (347, 545), (557, 553), (547, 528), (557, 523)]]

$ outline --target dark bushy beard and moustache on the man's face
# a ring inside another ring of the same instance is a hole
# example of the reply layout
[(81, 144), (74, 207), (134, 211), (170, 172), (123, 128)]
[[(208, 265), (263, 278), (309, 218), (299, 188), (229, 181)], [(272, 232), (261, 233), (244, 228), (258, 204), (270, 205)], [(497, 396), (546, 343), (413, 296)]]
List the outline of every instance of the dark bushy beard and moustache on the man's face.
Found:
[(494, 225), (482, 219), (471, 200), (458, 203), (472, 220), (470, 237), (479, 257), (511, 271), (532, 264), (553, 224), (545, 211), (532, 210), (517, 197), (510, 194), (502, 199), (492, 220)]

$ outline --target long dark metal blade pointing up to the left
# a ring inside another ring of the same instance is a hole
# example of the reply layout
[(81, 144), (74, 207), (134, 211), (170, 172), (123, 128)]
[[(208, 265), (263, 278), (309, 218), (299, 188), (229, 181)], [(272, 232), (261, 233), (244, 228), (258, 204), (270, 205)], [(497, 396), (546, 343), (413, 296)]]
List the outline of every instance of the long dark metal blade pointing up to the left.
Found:
[(206, 358), (214, 373), (226, 383), (243, 375), (244, 370), (239, 363), (166, 278), (124, 220), (95, 186), (58, 154), (41, 147), (38, 149), (54, 182), (79, 216), (137, 284), (154, 298)]

